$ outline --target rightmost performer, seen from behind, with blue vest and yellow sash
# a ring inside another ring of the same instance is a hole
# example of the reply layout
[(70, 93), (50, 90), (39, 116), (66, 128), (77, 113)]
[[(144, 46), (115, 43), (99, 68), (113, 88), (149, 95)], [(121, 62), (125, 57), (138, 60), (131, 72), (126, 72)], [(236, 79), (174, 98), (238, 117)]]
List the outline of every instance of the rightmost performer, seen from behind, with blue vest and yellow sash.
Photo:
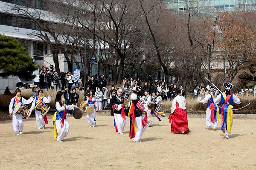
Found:
[(229, 139), (231, 135), (231, 128), (233, 125), (233, 103), (240, 104), (240, 99), (232, 94), (230, 90), (233, 85), (230, 82), (224, 82), (225, 91), (219, 94), (213, 101), (218, 104), (221, 102), (221, 130), (226, 133), (226, 138)]

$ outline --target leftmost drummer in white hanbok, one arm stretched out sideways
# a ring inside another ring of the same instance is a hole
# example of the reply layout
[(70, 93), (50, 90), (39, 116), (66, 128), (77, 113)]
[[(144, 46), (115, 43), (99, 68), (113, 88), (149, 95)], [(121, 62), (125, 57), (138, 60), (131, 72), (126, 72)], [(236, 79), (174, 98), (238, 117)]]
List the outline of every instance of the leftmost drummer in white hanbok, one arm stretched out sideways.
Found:
[(9, 105), (9, 113), (10, 115), (12, 115), (12, 127), (13, 127), (13, 131), (14, 133), (16, 133), (16, 135), (20, 135), (22, 134), (23, 131), (23, 117), (19, 114), (19, 113), (13, 113), (13, 109), (15, 108), (15, 106), (20, 102), (24, 105), (27, 105), (31, 102), (33, 102), (34, 98), (30, 97), (28, 100), (24, 99), (23, 97), (21, 97), (21, 91), (19, 88), (17, 88), (15, 90), (15, 96), (11, 99), (10, 105)]

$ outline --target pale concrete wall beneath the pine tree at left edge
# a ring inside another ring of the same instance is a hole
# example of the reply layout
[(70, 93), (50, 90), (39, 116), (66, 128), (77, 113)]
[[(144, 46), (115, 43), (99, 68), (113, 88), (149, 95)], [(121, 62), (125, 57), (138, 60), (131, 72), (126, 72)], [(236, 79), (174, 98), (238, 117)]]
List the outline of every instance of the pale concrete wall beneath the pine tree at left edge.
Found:
[(8, 78), (0, 77), (0, 94), (3, 94), (6, 87), (10, 87), (10, 91), (14, 91), (16, 89), (16, 84), (18, 82), (18, 77), (9, 76)]

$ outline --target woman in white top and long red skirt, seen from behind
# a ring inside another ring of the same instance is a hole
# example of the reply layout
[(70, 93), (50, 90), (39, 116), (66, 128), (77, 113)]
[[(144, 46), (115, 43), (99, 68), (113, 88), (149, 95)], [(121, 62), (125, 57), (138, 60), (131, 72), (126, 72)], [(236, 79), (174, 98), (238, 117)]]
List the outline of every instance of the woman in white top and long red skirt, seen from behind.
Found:
[(177, 90), (177, 96), (172, 100), (172, 111), (169, 119), (172, 133), (189, 133), (186, 99), (180, 94), (180, 89)]

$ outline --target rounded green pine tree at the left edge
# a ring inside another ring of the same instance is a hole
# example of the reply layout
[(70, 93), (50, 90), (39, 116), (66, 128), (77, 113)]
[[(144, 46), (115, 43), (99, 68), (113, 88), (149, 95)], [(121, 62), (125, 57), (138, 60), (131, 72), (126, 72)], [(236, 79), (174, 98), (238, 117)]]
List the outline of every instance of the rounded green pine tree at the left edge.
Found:
[(13, 37), (0, 35), (0, 76), (10, 75), (32, 79), (32, 73), (38, 69), (29, 57), (22, 43)]

